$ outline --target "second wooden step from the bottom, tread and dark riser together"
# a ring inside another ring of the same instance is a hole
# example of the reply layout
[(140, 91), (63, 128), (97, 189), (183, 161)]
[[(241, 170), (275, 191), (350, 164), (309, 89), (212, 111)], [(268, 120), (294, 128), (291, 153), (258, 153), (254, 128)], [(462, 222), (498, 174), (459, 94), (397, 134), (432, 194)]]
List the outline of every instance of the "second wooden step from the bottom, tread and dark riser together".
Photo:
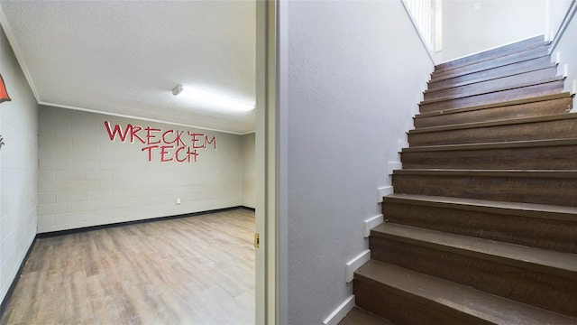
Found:
[[(371, 259), (577, 316), (577, 255), (393, 223), (371, 230)], [(539, 292), (539, 294), (535, 294)]]

